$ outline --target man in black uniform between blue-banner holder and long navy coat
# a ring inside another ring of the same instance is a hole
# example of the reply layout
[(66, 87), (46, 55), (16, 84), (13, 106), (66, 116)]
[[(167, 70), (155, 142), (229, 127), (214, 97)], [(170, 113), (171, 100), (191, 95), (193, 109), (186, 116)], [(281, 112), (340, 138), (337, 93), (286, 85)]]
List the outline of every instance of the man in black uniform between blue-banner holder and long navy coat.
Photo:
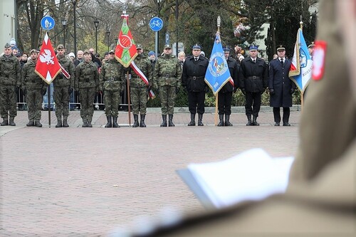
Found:
[[(246, 126), (259, 126), (257, 120), (261, 107), (261, 95), (268, 85), (268, 68), (263, 58), (258, 58), (258, 46), (249, 47), (250, 56), (241, 61), (239, 87), (246, 97)], [(253, 121), (251, 122), (251, 115)]]

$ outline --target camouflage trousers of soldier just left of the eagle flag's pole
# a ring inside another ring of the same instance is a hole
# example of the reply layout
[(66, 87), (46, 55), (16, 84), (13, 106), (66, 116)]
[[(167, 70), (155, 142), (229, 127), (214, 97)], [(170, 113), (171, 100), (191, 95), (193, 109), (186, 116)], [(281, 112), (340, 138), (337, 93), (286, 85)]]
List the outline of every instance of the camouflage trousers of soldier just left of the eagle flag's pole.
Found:
[(28, 120), (41, 120), (41, 109), (42, 109), (42, 90), (33, 89), (27, 90), (26, 93), (26, 102), (27, 102), (27, 114)]

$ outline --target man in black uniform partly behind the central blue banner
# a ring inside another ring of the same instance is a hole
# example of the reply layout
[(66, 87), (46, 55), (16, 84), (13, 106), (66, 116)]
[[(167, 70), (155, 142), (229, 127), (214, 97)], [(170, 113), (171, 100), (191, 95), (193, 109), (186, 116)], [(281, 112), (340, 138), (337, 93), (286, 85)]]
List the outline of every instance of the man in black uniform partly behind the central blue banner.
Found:
[[(227, 65), (229, 66), (229, 71), (232, 80), (234, 80), (234, 85), (231, 85), (230, 82), (227, 82), (221, 90), (219, 90), (219, 124), (218, 127), (221, 126), (232, 126), (230, 120), (231, 115), (231, 101), (232, 101), (232, 93), (236, 92), (237, 89), (237, 77), (239, 73), (239, 65), (236, 60), (232, 58), (230, 55), (230, 48), (224, 48), (224, 56), (226, 58)], [(225, 122), (224, 122), (225, 115)]]

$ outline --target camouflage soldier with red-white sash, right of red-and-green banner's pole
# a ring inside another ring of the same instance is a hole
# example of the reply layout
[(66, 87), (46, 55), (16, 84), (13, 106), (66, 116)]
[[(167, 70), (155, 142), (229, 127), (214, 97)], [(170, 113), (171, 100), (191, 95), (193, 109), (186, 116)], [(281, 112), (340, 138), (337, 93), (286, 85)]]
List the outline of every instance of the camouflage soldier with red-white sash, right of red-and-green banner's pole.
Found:
[(134, 62), (137, 65), (137, 68), (140, 68), (143, 74), (145, 74), (148, 85), (144, 83), (142, 78), (140, 78), (135, 70), (131, 68), (131, 80), (130, 80), (130, 95), (132, 103), (132, 112), (134, 115), (134, 124), (132, 127), (138, 127), (138, 113), (140, 112), (140, 127), (146, 127), (145, 117), (147, 110), (147, 90), (150, 90), (152, 86), (152, 65), (150, 60), (143, 54), (143, 49), (140, 44), (137, 44), (137, 57)]

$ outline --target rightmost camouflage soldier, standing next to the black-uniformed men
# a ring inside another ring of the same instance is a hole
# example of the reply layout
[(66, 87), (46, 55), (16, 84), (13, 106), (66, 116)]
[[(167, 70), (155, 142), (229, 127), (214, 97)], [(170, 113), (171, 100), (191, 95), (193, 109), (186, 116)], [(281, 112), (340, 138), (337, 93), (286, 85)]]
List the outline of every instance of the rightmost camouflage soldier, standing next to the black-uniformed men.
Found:
[(173, 127), (174, 123), (174, 100), (182, 84), (182, 70), (178, 59), (172, 55), (172, 48), (169, 45), (164, 46), (162, 56), (159, 56), (155, 65), (154, 86), (159, 91), (162, 107), (161, 127), (167, 127), (167, 114), (169, 117), (168, 125)]

